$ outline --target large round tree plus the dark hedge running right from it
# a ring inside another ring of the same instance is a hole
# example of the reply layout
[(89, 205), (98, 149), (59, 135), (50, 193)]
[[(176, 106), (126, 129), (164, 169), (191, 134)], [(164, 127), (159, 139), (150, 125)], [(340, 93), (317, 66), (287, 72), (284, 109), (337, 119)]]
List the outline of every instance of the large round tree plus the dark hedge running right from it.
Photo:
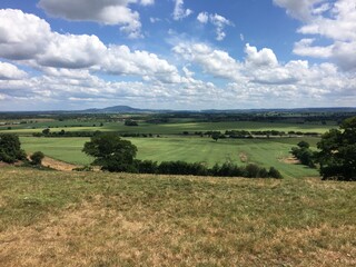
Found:
[(257, 165), (236, 166), (233, 164), (215, 165), (212, 168), (198, 162), (137, 160), (137, 147), (128, 140), (122, 140), (117, 134), (107, 132), (91, 137), (85, 144), (83, 151), (95, 157), (92, 165), (101, 166), (102, 170), (140, 174), (194, 175), (194, 176), (227, 176), (250, 178), (281, 178), (280, 172)]

